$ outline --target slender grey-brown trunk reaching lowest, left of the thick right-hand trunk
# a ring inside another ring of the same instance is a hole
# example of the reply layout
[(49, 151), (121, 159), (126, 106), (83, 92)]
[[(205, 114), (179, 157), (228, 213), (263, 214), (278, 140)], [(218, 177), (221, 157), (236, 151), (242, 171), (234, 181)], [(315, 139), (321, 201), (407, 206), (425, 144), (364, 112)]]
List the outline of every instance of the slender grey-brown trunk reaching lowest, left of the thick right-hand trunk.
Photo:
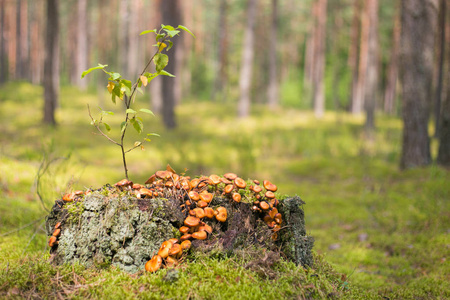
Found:
[(364, 105), (366, 110), (366, 132), (375, 130), (375, 108), (378, 92), (378, 0), (367, 0), (369, 17), (369, 40), (367, 48), (366, 86)]

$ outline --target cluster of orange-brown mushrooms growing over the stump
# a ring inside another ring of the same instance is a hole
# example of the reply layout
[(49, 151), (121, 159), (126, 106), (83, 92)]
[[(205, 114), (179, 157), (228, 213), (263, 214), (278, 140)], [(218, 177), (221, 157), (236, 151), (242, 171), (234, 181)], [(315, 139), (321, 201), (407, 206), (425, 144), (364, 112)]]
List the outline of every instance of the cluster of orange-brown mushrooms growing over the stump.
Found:
[[(161, 197), (179, 199), (180, 209), (186, 215), (183, 226), (179, 228), (181, 237), (169, 239), (161, 244), (158, 253), (145, 264), (145, 270), (149, 272), (156, 272), (163, 265), (167, 267), (177, 265), (183, 253), (190, 249), (192, 240), (207, 239), (213, 232), (207, 221), (227, 220), (225, 207), (210, 206), (215, 196), (229, 198), (234, 203), (241, 201), (252, 203), (252, 210), (258, 213), (272, 230), (273, 240), (277, 239), (277, 232), (281, 229), (282, 216), (276, 208), (279, 203), (275, 196), (277, 186), (268, 180), (264, 180), (261, 186), (258, 180), (246, 182), (234, 173), (191, 179), (190, 176), (178, 175), (168, 165), (166, 170), (153, 174), (144, 185), (123, 179), (114, 186), (121, 191), (129, 191), (138, 199)], [(63, 200), (74, 201), (77, 197), (90, 192), (69, 193), (63, 196)], [(50, 247), (57, 243), (61, 224), (58, 223), (57, 226), (50, 238)]]

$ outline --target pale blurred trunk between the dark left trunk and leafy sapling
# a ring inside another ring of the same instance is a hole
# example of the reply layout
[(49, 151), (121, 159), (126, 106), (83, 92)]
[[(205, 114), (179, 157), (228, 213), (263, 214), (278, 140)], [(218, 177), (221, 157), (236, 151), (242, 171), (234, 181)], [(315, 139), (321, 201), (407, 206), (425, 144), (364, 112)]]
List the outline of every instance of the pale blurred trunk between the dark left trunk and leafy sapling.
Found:
[(76, 84), (82, 89), (86, 90), (87, 80), (81, 79), (81, 73), (88, 68), (87, 61), (87, 0), (78, 0), (77, 2), (77, 51), (76, 51)]

